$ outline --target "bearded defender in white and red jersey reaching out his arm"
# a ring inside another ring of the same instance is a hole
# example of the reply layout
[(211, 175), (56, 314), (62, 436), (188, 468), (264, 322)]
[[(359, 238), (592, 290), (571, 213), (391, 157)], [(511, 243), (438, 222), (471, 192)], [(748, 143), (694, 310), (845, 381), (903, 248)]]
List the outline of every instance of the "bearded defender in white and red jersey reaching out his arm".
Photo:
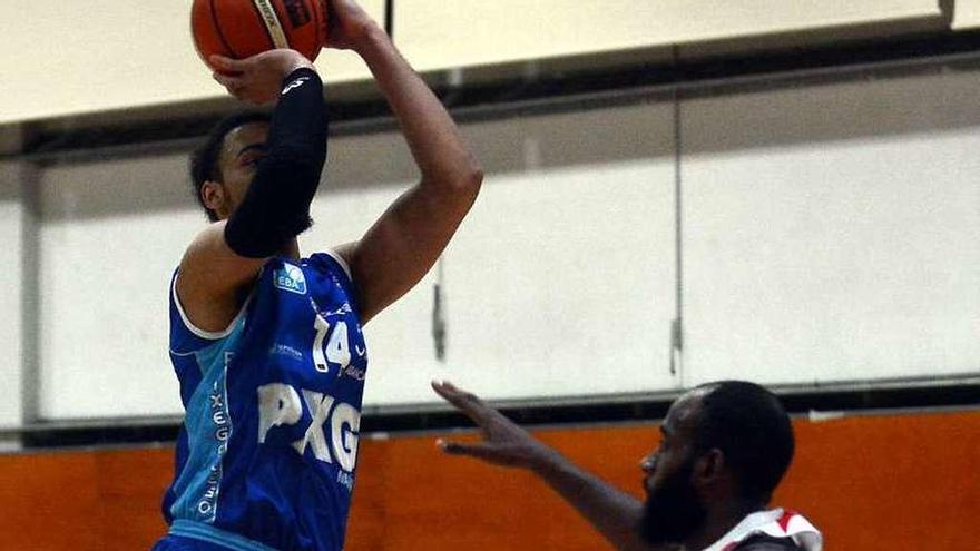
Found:
[(766, 509), (794, 441), (778, 399), (759, 385), (709, 383), (670, 405), (660, 446), (641, 462), (646, 502), (581, 470), (477, 396), (445, 382), (432, 387), (484, 435), (477, 444), (440, 440), (444, 452), (533, 472), (617, 549), (822, 549), (802, 515)]

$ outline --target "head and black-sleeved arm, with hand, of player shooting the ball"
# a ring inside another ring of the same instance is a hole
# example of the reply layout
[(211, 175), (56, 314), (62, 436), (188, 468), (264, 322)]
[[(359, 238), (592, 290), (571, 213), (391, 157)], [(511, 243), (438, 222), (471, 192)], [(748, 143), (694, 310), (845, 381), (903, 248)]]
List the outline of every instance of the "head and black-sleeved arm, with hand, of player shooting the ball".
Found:
[(295, 237), (310, 225), (326, 158), (326, 125), (323, 85), (298, 52), (212, 60), (225, 71), (215, 79), (232, 95), (253, 104), (277, 101), (271, 121), (254, 116), (219, 128), (213, 150), (195, 159), (200, 201), (216, 222), (187, 248), (176, 291), (190, 322), (222, 331), (265, 260), (297, 255)]

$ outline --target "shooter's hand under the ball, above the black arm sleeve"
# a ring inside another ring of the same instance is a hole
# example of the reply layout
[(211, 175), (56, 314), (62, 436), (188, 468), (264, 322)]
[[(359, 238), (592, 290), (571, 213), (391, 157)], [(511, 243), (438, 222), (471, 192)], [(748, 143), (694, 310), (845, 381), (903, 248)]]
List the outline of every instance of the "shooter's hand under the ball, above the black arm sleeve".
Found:
[(228, 94), (253, 105), (275, 102), (282, 91), (283, 79), (302, 67), (313, 69), (313, 63), (295, 50), (275, 49), (245, 59), (212, 56), (210, 62), (218, 69), (214, 79)]

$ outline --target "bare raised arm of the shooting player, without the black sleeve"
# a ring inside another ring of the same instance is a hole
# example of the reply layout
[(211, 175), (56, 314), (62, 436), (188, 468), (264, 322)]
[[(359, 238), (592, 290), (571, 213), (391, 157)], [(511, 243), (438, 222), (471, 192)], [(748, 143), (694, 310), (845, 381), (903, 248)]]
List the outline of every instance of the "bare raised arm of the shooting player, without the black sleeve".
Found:
[(432, 267), (473, 205), (483, 176), (452, 118), (388, 35), (352, 0), (331, 0), (330, 7), (329, 46), (352, 49), (367, 63), (422, 174), (360, 242), (340, 250), (366, 322)]

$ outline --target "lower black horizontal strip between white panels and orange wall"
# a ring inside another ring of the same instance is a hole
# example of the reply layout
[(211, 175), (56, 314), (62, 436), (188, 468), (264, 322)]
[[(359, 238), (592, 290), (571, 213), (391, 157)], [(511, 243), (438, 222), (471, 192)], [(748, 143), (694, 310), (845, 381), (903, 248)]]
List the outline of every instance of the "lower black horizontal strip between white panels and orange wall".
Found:
[[(905, 414), (980, 407), (980, 376), (827, 384), (825, 387), (772, 387), (792, 415), (823, 419), (863, 414)], [(653, 422), (664, 419), (678, 393), (504, 401), (493, 405), (522, 425), (589, 425)], [(412, 411), (414, 410), (414, 411)], [(823, 414), (815, 413), (823, 412)], [(367, 437), (471, 427), (462, 414), (443, 404), (365, 407), (361, 433)], [(0, 430), (0, 440), (20, 437), (23, 447), (120, 446), (176, 441), (178, 417), (87, 420)]]

